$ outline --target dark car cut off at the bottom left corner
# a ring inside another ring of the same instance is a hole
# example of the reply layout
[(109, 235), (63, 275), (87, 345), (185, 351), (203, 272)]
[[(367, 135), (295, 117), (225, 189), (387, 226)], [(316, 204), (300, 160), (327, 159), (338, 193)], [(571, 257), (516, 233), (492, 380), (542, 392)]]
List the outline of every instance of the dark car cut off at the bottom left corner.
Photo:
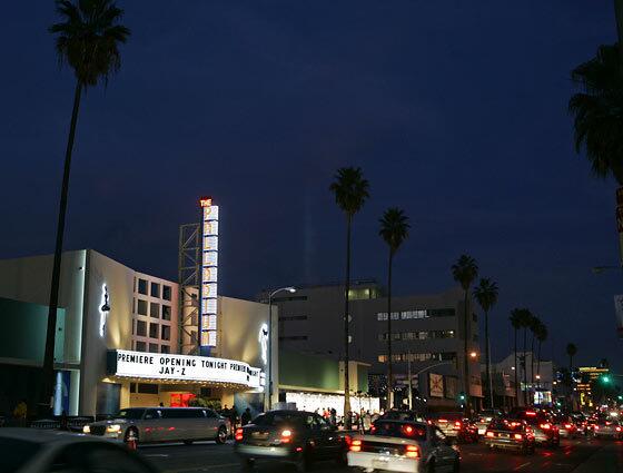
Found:
[(0, 428), (0, 470), (9, 473), (154, 473), (121, 442), (69, 432)]

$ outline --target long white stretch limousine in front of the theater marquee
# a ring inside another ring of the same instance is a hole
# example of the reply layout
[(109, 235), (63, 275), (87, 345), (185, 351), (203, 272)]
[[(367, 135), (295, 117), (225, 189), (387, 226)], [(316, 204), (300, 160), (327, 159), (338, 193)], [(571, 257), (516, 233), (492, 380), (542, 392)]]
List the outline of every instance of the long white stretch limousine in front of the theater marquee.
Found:
[(139, 443), (214, 440), (225, 443), (229, 421), (205, 407), (130, 407), (85, 426), (85, 434)]

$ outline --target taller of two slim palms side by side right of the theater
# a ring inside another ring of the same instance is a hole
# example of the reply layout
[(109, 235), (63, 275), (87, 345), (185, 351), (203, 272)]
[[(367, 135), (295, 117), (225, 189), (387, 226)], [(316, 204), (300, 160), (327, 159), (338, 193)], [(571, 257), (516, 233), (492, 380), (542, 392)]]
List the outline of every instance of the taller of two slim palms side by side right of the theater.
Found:
[[(344, 282), (344, 415), (350, 412), (350, 384), (348, 376), (348, 293), (350, 292), (350, 233), (353, 217), (364, 206), (369, 183), (360, 168), (339, 168), (329, 190), (335, 194), (337, 206), (346, 214), (346, 278)], [(349, 416), (347, 416), (349, 418)]]

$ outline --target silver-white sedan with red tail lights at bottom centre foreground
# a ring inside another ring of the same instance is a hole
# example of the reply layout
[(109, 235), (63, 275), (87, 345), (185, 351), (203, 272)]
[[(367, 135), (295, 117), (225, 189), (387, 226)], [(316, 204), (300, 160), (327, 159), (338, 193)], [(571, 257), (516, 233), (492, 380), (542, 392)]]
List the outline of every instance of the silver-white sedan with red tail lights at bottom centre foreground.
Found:
[(425, 422), (378, 420), (369, 434), (353, 437), (348, 466), (368, 472), (457, 473), (461, 454), (455, 442)]

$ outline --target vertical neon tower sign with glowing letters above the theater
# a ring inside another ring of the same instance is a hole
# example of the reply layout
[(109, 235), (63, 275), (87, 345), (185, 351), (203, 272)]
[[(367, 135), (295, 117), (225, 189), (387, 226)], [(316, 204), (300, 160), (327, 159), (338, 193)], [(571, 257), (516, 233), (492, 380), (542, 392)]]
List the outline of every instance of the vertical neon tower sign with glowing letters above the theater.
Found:
[(201, 205), (201, 288), (199, 352), (209, 355), (217, 343), (218, 206), (210, 197)]

